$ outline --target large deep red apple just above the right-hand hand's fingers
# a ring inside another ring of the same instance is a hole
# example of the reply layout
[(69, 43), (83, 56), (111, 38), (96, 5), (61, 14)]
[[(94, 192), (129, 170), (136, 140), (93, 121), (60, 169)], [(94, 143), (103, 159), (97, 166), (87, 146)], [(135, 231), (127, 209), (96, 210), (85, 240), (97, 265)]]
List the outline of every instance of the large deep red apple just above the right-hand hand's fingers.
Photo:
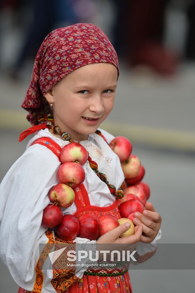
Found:
[(119, 205), (119, 211), (122, 218), (127, 218), (131, 213), (142, 213), (144, 206), (138, 200), (127, 200)]

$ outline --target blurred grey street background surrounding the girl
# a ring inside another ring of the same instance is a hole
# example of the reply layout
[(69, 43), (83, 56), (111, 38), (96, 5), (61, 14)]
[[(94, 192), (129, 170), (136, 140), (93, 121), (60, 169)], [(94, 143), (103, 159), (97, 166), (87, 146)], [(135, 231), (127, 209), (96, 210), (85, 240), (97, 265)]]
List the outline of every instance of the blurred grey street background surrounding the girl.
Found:
[[(101, 128), (128, 137), (163, 218), (160, 243), (195, 243), (195, 1), (0, 1), (1, 180), (25, 150), (20, 105), (42, 40), (78, 22), (98, 25), (119, 56), (115, 106)], [(28, 139), (27, 139), (28, 140)], [(18, 292), (0, 260), (1, 292)], [(134, 293), (193, 292), (192, 270), (130, 270)]]

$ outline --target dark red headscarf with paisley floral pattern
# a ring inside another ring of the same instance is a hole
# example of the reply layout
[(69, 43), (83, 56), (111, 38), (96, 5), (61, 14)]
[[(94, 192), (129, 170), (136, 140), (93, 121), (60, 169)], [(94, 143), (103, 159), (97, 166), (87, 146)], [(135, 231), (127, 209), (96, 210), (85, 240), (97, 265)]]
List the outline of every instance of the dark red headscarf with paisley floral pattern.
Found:
[(22, 108), (32, 125), (45, 115), (45, 93), (73, 70), (91, 63), (119, 64), (117, 53), (105, 33), (96, 25), (77, 23), (53, 30), (42, 42)]

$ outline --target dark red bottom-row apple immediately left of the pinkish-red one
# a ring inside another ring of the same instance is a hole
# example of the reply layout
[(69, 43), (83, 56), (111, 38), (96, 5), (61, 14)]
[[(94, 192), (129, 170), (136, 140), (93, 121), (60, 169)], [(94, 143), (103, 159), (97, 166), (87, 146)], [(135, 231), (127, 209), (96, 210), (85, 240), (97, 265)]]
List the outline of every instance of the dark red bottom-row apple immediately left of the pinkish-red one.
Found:
[(99, 219), (92, 214), (83, 214), (79, 219), (80, 232), (78, 237), (96, 240), (100, 233)]

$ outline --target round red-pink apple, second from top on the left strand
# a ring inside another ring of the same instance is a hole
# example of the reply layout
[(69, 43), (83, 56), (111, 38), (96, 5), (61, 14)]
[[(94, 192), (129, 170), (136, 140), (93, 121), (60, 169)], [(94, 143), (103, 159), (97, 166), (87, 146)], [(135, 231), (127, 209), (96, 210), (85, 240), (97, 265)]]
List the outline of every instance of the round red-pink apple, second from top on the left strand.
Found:
[(59, 167), (57, 178), (60, 183), (75, 188), (85, 180), (85, 170), (78, 163), (67, 162)]

